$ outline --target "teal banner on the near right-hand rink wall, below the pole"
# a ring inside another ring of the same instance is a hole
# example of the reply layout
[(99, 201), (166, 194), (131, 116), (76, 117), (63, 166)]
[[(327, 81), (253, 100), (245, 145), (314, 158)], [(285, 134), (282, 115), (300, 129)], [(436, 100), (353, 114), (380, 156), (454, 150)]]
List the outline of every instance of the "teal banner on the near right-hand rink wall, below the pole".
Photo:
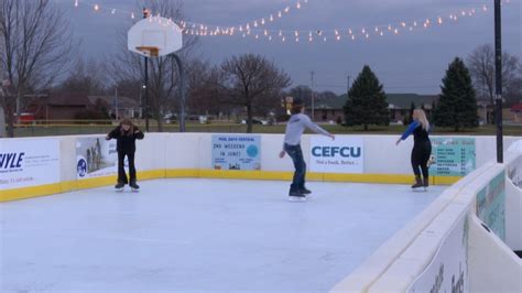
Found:
[(505, 240), (505, 171), (477, 194), (477, 216)]

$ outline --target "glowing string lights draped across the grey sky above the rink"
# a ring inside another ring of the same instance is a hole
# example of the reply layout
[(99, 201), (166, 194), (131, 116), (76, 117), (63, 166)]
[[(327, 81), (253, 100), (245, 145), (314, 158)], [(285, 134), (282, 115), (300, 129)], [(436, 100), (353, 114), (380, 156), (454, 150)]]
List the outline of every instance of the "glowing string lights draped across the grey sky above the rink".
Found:
[[(502, 0), (502, 4), (510, 3), (511, 0)], [(432, 18), (420, 18), (413, 21), (400, 21), (390, 24), (380, 25), (367, 25), (362, 28), (345, 28), (345, 29), (316, 29), (316, 30), (276, 30), (263, 28), (268, 23), (274, 22), (276, 19), (283, 18), (290, 13), (292, 9), (298, 10), (303, 4), (307, 4), (308, 0), (297, 0), (295, 4), (287, 6), (286, 8), (279, 10), (275, 13), (271, 13), (267, 18), (255, 19), (244, 24), (235, 26), (219, 26), (209, 25), (198, 22), (189, 21), (173, 21), (170, 23), (173, 28), (180, 26), (182, 32), (186, 35), (198, 35), (198, 36), (242, 36), (243, 39), (252, 37), (254, 40), (265, 40), (269, 42), (279, 41), (285, 42), (340, 42), (340, 41), (360, 41), (370, 40), (372, 37), (382, 37), (384, 35), (401, 35), (410, 32), (422, 31), (443, 24), (458, 23), (459, 20), (485, 14), (490, 11), (488, 4), (480, 4), (476, 7), (468, 7), (455, 10), (453, 13), (445, 15), (432, 17)], [(96, 12), (108, 11), (110, 14), (122, 13), (131, 19), (135, 18), (135, 14), (130, 11), (100, 7), (98, 3), (93, 3), (87, 0), (74, 0), (74, 6), (79, 7), (80, 4), (89, 6)], [(154, 13), (151, 13), (154, 15)], [(160, 20), (160, 18), (150, 18), (151, 21)], [(176, 23), (177, 25), (173, 25)]]

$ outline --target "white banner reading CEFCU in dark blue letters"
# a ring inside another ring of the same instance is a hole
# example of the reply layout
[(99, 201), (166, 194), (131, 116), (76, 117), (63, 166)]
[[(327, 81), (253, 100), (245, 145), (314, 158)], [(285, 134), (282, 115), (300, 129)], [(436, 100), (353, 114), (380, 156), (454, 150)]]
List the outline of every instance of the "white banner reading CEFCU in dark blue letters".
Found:
[(311, 139), (311, 171), (318, 173), (363, 173), (362, 138), (314, 135)]

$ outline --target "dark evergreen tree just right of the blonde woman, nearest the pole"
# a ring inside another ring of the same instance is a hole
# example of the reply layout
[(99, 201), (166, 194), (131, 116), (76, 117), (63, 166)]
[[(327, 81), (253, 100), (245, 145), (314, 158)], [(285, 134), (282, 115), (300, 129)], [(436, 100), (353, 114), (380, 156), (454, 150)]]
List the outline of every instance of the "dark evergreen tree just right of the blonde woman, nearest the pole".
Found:
[(442, 94), (433, 111), (437, 127), (463, 128), (478, 127), (477, 99), (468, 68), (460, 58), (449, 64), (443, 78)]

